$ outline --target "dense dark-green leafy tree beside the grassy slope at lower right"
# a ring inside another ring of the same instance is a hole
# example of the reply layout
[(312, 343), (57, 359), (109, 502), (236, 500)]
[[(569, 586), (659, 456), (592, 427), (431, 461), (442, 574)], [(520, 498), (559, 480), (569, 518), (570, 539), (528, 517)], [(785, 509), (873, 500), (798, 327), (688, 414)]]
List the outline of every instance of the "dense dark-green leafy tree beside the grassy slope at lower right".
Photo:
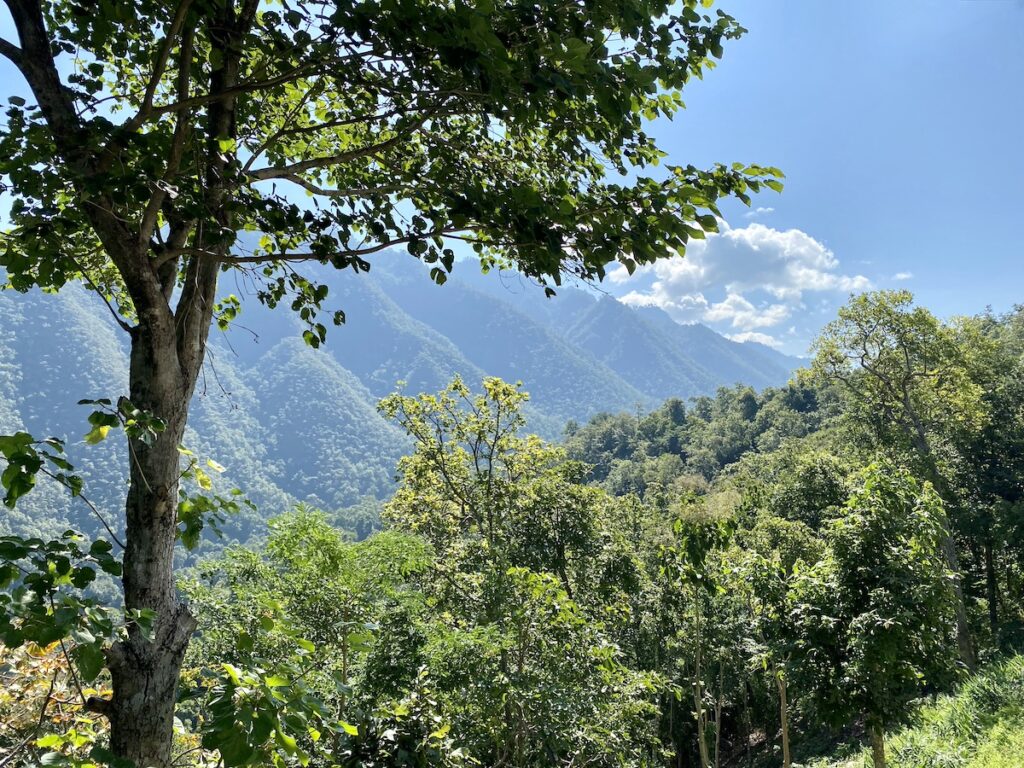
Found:
[(926, 684), (952, 677), (954, 594), (935, 490), (891, 464), (869, 465), (856, 482), (829, 551), (795, 578), (797, 668), (823, 717), (864, 718), (885, 768), (885, 727), (906, 719)]

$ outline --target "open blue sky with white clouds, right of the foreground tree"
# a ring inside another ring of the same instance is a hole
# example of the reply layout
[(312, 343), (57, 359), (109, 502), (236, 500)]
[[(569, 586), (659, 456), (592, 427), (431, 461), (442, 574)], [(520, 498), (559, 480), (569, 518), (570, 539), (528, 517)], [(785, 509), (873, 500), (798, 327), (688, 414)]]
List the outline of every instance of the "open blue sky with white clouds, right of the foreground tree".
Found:
[(1024, 2), (716, 7), (750, 32), (653, 133), (670, 161), (778, 166), (785, 190), (612, 293), (798, 354), (866, 286), (942, 316), (1024, 302)]

